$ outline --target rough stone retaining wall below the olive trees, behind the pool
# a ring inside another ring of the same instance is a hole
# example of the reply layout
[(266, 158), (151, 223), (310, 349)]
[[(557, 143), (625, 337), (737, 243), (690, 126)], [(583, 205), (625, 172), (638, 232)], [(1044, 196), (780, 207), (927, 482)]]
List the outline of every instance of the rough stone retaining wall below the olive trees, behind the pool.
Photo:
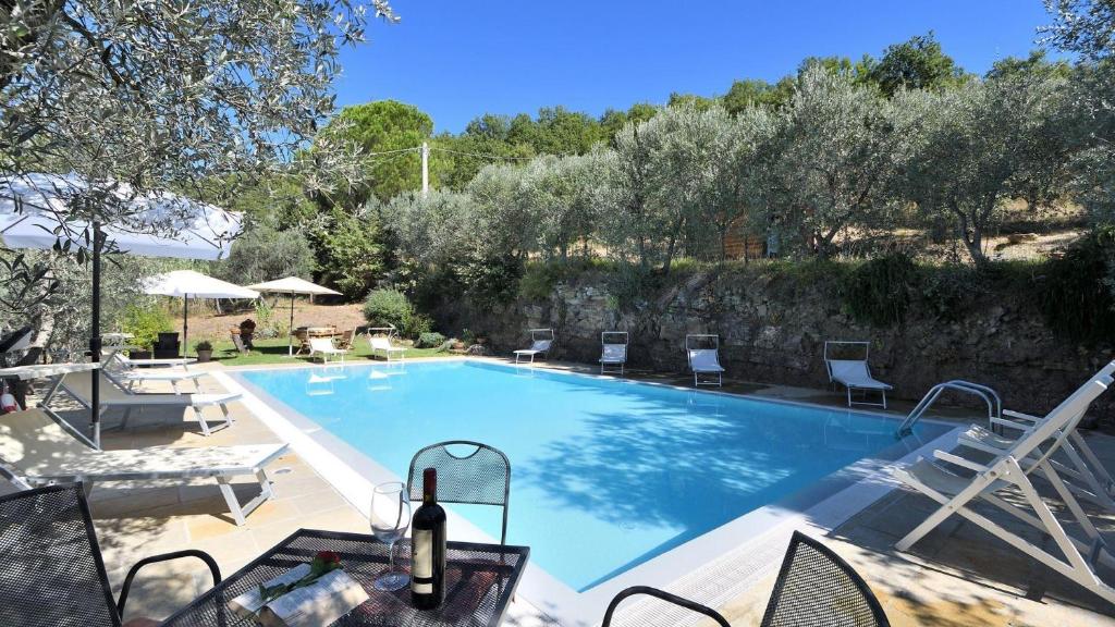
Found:
[(1056, 405), (1112, 359), (1111, 347), (1085, 349), (1055, 337), (1034, 305), (1012, 295), (981, 295), (959, 321), (912, 311), (901, 324), (874, 328), (843, 311), (831, 290), (777, 284), (788, 280), (698, 274), (620, 309), (607, 281), (589, 274), (558, 284), (545, 301), (455, 302), (438, 318), (445, 328), (486, 334), (496, 353), (525, 346), (527, 328), (553, 327), (554, 357), (584, 363), (599, 358), (600, 331), (626, 330), (632, 366), (679, 373), (686, 334), (719, 334), (728, 377), (804, 387), (828, 385), (826, 339), (867, 339), (872, 372), (894, 385), (896, 397), (918, 399), (935, 383), (963, 378), (991, 385), (1008, 407), (1034, 412)]

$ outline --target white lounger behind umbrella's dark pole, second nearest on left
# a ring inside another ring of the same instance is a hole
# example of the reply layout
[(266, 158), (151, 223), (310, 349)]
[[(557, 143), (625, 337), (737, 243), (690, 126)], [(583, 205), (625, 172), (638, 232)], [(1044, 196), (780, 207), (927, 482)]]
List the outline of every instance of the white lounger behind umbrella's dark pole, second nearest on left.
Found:
[[(75, 401), (84, 405), (86, 408), (93, 406), (93, 377), (87, 374), (67, 374), (64, 375), (59, 385), (61, 389), (69, 394)], [(219, 428), (224, 428), (232, 426), (232, 415), (229, 413), (229, 403), (234, 401), (240, 401), (240, 394), (146, 394), (146, 393), (135, 393), (125, 389), (110, 378), (105, 376), (103, 373), (100, 375), (100, 412), (112, 407), (123, 407), (124, 408), (124, 419), (120, 426), (127, 425), (128, 416), (132, 415), (132, 411), (135, 408), (144, 407), (182, 407), (190, 408), (194, 411), (194, 415), (197, 416), (197, 423), (202, 427), (202, 433), (210, 435)], [(205, 416), (202, 414), (202, 408), (217, 406), (221, 408), (221, 413), (224, 414), (224, 424), (216, 427), (210, 427), (209, 423), (205, 421)]]

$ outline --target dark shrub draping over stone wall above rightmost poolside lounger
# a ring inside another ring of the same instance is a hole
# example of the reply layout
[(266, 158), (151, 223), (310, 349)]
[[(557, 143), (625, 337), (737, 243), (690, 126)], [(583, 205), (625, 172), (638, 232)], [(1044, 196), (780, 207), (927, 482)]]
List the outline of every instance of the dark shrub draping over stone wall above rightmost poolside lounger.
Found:
[(872, 259), (844, 280), (843, 300), (854, 318), (879, 327), (901, 321), (917, 287), (918, 267), (901, 253)]

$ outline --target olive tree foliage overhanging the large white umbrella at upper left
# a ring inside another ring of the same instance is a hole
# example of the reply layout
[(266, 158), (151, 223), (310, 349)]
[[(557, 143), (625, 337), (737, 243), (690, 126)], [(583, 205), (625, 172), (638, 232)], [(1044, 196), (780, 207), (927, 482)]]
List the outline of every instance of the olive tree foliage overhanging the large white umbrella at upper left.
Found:
[[(370, 13), (394, 19), (386, 0), (6, 2), (0, 172), (74, 172), (90, 182), (71, 194), (59, 229), (132, 222), (153, 233), (173, 232), (178, 216), (136, 223), (132, 195), (173, 190), (220, 203), (272, 171), (302, 170), (311, 186), (345, 180), (349, 146), (295, 157), (332, 113), (341, 48), (363, 39)], [(71, 237), (83, 250), (93, 243)], [(7, 282), (46, 281), (27, 292), (41, 302), (50, 293), (39, 288), (68, 289), (60, 259), (8, 259)], [(22, 314), (36, 317), (38, 306), (27, 305)]]

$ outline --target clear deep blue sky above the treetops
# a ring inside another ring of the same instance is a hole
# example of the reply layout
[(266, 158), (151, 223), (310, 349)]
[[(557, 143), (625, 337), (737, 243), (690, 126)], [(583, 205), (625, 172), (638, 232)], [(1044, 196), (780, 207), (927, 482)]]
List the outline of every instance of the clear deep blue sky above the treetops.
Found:
[(343, 54), (338, 103), (392, 98), (437, 131), (484, 113), (564, 105), (593, 115), (671, 91), (723, 94), (738, 78), (776, 80), (807, 56), (875, 57), (933, 30), (969, 71), (1037, 48), (1041, 0), (392, 0)]

